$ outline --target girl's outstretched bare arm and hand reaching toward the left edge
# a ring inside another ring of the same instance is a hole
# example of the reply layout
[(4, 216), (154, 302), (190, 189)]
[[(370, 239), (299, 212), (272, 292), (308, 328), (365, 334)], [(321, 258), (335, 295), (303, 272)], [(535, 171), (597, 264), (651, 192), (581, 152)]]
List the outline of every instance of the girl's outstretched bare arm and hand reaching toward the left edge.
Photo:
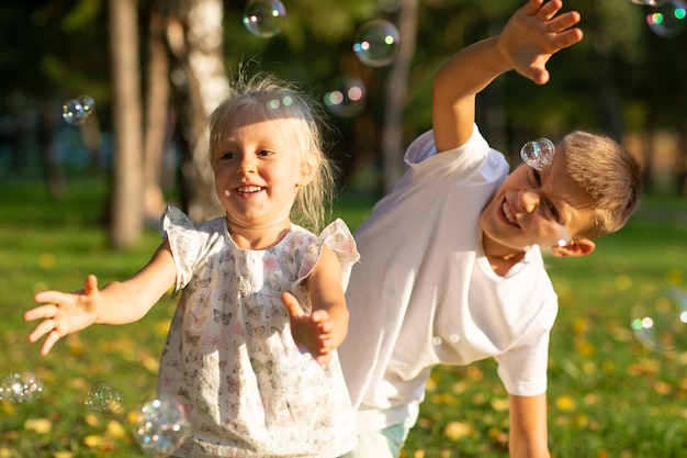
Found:
[(24, 313), (25, 321), (43, 320), (29, 335), (34, 343), (44, 335), (42, 355), (47, 355), (60, 337), (92, 324), (126, 324), (143, 317), (174, 283), (177, 267), (167, 241), (148, 264), (125, 281), (98, 289), (98, 279), (89, 275), (83, 289), (71, 293), (42, 291), (34, 295), (43, 304)]

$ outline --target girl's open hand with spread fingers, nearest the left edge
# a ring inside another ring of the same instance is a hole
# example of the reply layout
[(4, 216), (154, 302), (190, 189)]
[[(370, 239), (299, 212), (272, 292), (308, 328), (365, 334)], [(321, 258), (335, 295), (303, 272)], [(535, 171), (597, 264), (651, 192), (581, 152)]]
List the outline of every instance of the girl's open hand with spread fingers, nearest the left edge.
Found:
[(95, 322), (100, 291), (93, 275), (86, 277), (83, 289), (76, 292), (41, 291), (34, 295), (40, 304), (24, 313), (24, 321), (43, 320), (29, 335), (34, 343), (44, 335), (41, 354), (47, 355), (60, 337), (81, 331)]

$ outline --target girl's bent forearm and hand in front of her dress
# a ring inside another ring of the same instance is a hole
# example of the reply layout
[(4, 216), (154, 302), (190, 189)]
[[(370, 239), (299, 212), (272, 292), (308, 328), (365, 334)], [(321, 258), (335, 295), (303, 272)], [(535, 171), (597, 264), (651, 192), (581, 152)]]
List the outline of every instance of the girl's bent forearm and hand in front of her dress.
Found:
[(341, 287), (341, 266), (336, 254), (326, 245), (317, 265), (307, 279), (308, 294), (313, 304), (311, 315), (293, 294), (285, 292), (282, 301), (291, 315), (291, 329), (295, 343), (307, 350), (320, 364), (331, 359), (348, 334), (349, 312)]

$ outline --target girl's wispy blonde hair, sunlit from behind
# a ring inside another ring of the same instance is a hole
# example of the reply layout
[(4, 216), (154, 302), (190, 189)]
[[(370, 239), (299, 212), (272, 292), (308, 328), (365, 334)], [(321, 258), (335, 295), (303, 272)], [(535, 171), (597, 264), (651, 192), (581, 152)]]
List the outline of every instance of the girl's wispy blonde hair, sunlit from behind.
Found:
[[(299, 138), (302, 163), (314, 167), (311, 180), (301, 186), (291, 209), (291, 220), (318, 232), (324, 225), (335, 192), (335, 167), (325, 154), (325, 130), (331, 129), (326, 111), (294, 83), (268, 74), (250, 78), (239, 76), (229, 96), (210, 115), (210, 152), (221, 142), (222, 131), (233, 116), (259, 115), (261, 119), (288, 119)], [(309, 155), (309, 157), (307, 157)]]

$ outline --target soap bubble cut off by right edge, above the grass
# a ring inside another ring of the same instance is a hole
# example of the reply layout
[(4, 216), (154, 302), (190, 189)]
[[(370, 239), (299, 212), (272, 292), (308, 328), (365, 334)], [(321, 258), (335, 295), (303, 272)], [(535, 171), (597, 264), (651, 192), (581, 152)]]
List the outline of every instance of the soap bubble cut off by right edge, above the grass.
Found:
[(666, 288), (642, 298), (630, 322), (637, 339), (658, 353), (687, 349), (687, 293)]

